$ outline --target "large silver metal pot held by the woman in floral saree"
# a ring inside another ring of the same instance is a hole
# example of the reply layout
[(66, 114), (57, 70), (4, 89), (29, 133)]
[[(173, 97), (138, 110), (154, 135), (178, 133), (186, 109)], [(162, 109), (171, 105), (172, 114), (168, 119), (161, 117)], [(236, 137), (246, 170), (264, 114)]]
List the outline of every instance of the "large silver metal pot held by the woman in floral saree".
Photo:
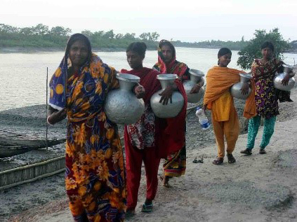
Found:
[(140, 78), (131, 74), (117, 74), (119, 89), (108, 92), (104, 110), (107, 118), (122, 125), (136, 123), (145, 112), (145, 102), (132, 92)]

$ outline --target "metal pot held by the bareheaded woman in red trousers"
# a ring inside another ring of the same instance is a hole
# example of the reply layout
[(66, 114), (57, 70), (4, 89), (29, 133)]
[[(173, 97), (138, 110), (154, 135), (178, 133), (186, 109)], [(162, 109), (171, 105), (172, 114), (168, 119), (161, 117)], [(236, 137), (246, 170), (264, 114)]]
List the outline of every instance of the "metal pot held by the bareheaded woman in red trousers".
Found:
[(161, 96), (159, 95), (163, 92), (168, 85), (175, 84), (174, 81), (178, 78), (176, 74), (159, 74), (157, 79), (161, 83), (162, 89), (155, 92), (150, 98), (150, 106), (154, 115), (159, 118), (173, 118), (178, 116), (178, 113), (183, 109), (184, 99), (180, 92), (174, 91), (172, 94), (172, 103), (169, 101), (168, 104), (163, 105), (160, 102)]

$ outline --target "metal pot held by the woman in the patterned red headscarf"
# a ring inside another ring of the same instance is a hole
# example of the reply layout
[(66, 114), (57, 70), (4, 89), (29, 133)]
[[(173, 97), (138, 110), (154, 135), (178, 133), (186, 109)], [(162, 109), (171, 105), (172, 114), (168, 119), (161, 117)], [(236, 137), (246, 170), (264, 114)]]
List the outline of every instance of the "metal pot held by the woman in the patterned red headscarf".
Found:
[(190, 69), (190, 81), (185, 81), (183, 83), (183, 88), (185, 88), (185, 93), (187, 94), (187, 102), (199, 102), (204, 96), (204, 88), (200, 88), (198, 93), (190, 93), (194, 85), (199, 83), (204, 73), (197, 69)]

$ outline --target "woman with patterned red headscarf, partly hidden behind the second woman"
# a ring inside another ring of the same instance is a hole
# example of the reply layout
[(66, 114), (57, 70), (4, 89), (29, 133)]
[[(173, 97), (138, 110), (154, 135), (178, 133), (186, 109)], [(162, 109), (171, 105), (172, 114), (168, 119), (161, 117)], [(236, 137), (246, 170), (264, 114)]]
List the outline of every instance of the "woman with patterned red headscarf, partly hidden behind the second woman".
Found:
[[(176, 49), (171, 42), (163, 39), (159, 42), (158, 47), (158, 62), (154, 64), (153, 69), (162, 74), (177, 74), (181, 82), (190, 79), (189, 68), (183, 62), (176, 60)], [(200, 88), (204, 85), (204, 79), (192, 88), (190, 93), (198, 93)], [(185, 125), (185, 122), (184, 122)], [(186, 128), (186, 125), (185, 125)], [(183, 134), (185, 134), (185, 131)], [(172, 176), (182, 176), (185, 174), (186, 167), (186, 149), (185, 144), (174, 153), (169, 153), (165, 158), (163, 169), (163, 186), (169, 187), (169, 178)]]

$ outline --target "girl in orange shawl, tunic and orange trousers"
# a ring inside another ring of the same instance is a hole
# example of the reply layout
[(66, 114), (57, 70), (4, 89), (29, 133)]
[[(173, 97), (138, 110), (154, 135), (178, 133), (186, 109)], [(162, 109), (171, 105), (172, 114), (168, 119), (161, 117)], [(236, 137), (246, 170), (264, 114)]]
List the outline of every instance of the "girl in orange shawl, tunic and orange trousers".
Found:
[[(214, 165), (223, 164), (225, 156), (224, 136), (227, 141), (228, 162), (236, 162), (232, 152), (235, 149), (239, 135), (239, 120), (230, 87), (239, 82), (239, 73), (241, 71), (227, 68), (231, 61), (231, 55), (229, 48), (221, 48), (218, 51), (218, 66), (209, 69), (206, 75), (204, 110), (206, 108), (211, 109), (213, 132), (216, 135), (216, 144), (218, 146), (218, 157), (213, 160)], [(246, 94), (248, 90), (249, 84), (246, 83), (242, 88), (242, 93)]]

